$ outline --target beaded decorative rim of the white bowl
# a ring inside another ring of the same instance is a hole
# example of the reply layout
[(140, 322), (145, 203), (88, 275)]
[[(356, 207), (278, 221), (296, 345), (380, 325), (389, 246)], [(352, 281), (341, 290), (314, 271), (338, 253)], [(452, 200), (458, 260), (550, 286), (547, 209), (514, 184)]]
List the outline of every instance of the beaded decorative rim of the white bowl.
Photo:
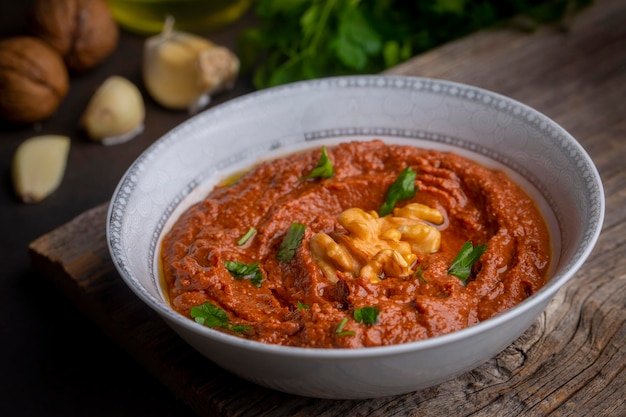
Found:
[[(155, 151), (162, 142), (166, 141), (169, 137), (175, 136), (176, 133), (185, 127), (193, 126), (194, 123), (197, 123), (199, 117), (204, 114), (210, 114), (215, 112), (220, 112), (224, 110), (228, 110), (231, 107), (236, 107), (241, 103), (244, 103), (247, 100), (254, 100), (257, 97), (264, 97), (268, 94), (277, 94), (280, 92), (284, 92), (285, 90), (291, 89), (299, 89), (303, 86), (312, 87), (316, 84), (332, 82), (333, 80), (337, 82), (359, 82), (359, 80), (368, 80), (368, 79), (386, 79), (389, 82), (395, 81), (411, 81), (411, 82), (425, 82), (425, 83), (437, 83), (442, 86), (448, 87), (457, 87), (462, 89), (470, 89), (477, 93), (482, 93), (488, 95), (492, 98), (497, 98), (500, 100), (504, 100), (506, 102), (515, 104), (519, 108), (522, 108), (529, 113), (539, 116), (544, 121), (547, 121), (551, 124), (552, 128), (556, 129), (558, 133), (568, 141), (570, 146), (573, 146), (577, 152), (577, 154), (584, 159), (587, 164), (587, 168), (590, 171), (591, 179), (590, 181), (594, 182), (597, 185), (596, 191), (597, 195), (597, 218), (595, 222), (593, 222), (593, 230), (589, 232), (587, 235), (587, 239), (585, 240), (586, 245), (584, 246), (582, 251), (577, 252), (579, 255), (576, 259), (573, 259), (567, 265), (563, 266), (562, 272), (553, 276), (546, 284), (535, 294), (528, 297), (521, 303), (513, 306), (512, 308), (494, 316), (488, 320), (479, 322), (473, 326), (457, 330), (448, 334), (444, 334), (441, 336), (430, 337), (423, 340), (417, 340), (413, 342), (394, 344), (394, 345), (384, 345), (384, 346), (376, 346), (376, 347), (364, 347), (359, 349), (342, 349), (342, 348), (316, 348), (316, 347), (299, 347), (299, 346), (283, 346), (277, 344), (263, 343), (253, 340), (244, 339), (239, 336), (226, 334), (219, 330), (211, 329), (206, 326), (200, 325), (193, 320), (190, 320), (187, 317), (183, 317), (182, 315), (174, 312), (167, 304), (167, 301), (159, 301), (152, 295), (148, 294), (146, 290), (144, 290), (141, 286), (138, 286), (137, 280), (131, 279), (126, 275), (126, 271), (120, 263), (120, 260), (116, 257), (116, 251), (112, 245), (112, 219), (113, 219), (113, 210), (115, 208), (116, 197), (120, 194), (120, 190), (124, 185), (124, 179), (133, 173), (136, 168), (137, 162), (144, 158), (146, 155)], [(438, 78), (429, 78), (429, 77), (418, 77), (418, 76), (405, 76), (405, 75), (388, 75), (388, 74), (375, 74), (375, 75), (346, 75), (346, 76), (336, 76), (336, 77), (325, 77), (318, 78), (313, 80), (304, 80), (292, 82), (276, 87), (271, 87), (264, 90), (253, 91), (242, 96), (230, 99), (224, 103), (218, 104), (214, 107), (211, 107), (207, 110), (202, 111), (190, 119), (182, 122), (181, 124), (175, 126), (170, 129), (164, 135), (156, 139), (150, 146), (148, 146), (139, 156), (135, 159), (135, 161), (129, 166), (129, 168), (125, 171), (125, 173), (120, 178), (115, 190), (112, 194), (112, 198), (109, 200), (109, 205), (107, 209), (107, 218), (106, 218), (106, 237), (107, 237), (107, 246), (109, 249), (109, 253), (113, 260), (113, 264), (119, 273), (121, 279), (125, 282), (125, 284), (131, 289), (131, 291), (137, 295), (144, 304), (150, 307), (153, 311), (159, 313), (162, 318), (167, 321), (173, 321), (177, 325), (182, 326), (184, 329), (191, 331), (193, 333), (202, 335), (203, 337), (207, 337), (214, 342), (221, 342), (227, 345), (242, 348), (250, 351), (263, 352), (264, 354), (274, 354), (280, 356), (288, 356), (288, 357), (299, 357), (299, 358), (324, 358), (324, 359), (358, 359), (358, 358), (370, 358), (370, 357), (387, 357), (394, 356), (398, 354), (404, 354), (409, 352), (430, 350), (441, 347), (443, 345), (454, 343), (455, 341), (471, 338), (483, 332), (486, 332), (490, 329), (494, 329), (500, 327), (509, 321), (512, 321), (516, 316), (527, 312), (528, 310), (533, 309), (537, 305), (545, 303), (547, 305), (548, 302), (554, 297), (556, 292), (563, 286), (567, 281), (569, 281), (575, 273), (580, 269), (580, 267), (586, 262), (588, 256), (591, 254), (592, 250), (595, 247), (595, 244), (600, 236), (602, 225), (604, 222), (604, 214), (605, 214), (605, 195), (604, 189), (602, 185), (601, 177), (598, 173), (597, 167), (593, 163), (591, 157), (583, 148), (583, 146), (563, 127), (561, 127), (554, 120), (550, 119), (548, 116), (543, 114), (542, 112), (517, 101), (511, 97), (502, 95), (500, 93), (484, 89), (482, 87), (473, 86), (470, 84), (460, 83), (456, 81), (450, 81), (445, 79)], [(168, 323), (170, 324), (170, 323)], [(174, 329), (176, 331), (176, 329)]]

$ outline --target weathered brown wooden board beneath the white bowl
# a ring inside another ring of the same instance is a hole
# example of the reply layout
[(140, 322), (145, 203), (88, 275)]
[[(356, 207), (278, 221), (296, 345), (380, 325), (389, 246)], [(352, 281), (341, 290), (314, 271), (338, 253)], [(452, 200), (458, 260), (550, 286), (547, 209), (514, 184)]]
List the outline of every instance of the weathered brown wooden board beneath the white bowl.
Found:
[(604, 183), (590, 258), (530, 329), (475, 370), (362, 401), (246, 382), (203, 360), (124, 285), (106, 247), (106, 204), (32, 242), (33, 264), (198, 415), (626, 415), (626, 2), (596, 0), (565, 32), (476, 33), (388, 73), (473, 84), (538, 109), (580, 141)]

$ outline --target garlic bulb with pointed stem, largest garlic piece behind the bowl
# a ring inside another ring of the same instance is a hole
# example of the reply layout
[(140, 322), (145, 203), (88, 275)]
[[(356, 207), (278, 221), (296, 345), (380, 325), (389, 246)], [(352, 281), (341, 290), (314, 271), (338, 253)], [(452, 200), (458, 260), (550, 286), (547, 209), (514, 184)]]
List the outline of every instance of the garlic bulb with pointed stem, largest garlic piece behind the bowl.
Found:
[(208, 39), (173, 30), (173, 24), (168, 17), (163, 32), (146, 40), (143, 80), (157, 103), (193, 114), (212, 94), (232, 88), (239, 59)]

